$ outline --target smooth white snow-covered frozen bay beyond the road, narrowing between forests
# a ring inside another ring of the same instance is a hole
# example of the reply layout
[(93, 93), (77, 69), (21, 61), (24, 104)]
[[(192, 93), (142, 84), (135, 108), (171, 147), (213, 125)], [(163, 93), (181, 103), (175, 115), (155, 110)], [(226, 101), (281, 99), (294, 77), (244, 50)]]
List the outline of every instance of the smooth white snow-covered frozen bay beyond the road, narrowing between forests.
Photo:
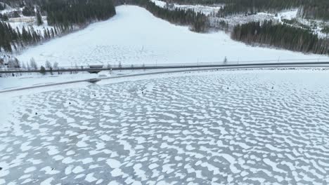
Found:
[(198, 34), (188, 27), (172, 25), (155, 18), (138, 6), (118, 6), (110, 20), (53, 39), (27, 49), (18, 59), (29, 62), (34, 57), (41, 65), (46, 60), (60, 66), (77, 64), (174, 64), (243, 60), (286, 60), (325, 58), (319, 55), (254, 48), (232, 41), (228, 34)]

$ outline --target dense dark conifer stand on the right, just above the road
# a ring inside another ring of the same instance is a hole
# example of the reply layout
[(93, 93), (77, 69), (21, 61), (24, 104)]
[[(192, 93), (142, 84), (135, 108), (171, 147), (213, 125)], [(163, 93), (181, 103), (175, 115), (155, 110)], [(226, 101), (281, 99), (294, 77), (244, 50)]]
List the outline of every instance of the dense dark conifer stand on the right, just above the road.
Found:
[(329, 40), (317, 34), (273, 21), (248, 22), (233, 28), (231, 38), (250, 45), (274, 46), (303, 53), (329, 54)]

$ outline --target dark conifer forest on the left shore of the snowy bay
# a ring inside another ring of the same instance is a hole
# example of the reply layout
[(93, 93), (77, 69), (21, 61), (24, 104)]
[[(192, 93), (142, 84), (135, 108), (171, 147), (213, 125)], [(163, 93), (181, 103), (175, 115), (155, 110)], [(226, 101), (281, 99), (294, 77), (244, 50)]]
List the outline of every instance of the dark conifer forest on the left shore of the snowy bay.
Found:
[[(0, 52), (6, 53), (49, 40), (60, 34), (67, 34), (91, 22), (107, 20), (115, 15), (115, 6), (111, 0), (4, 0), (4, 2), (10, 6), (24, 7), (22, 15), (35, 15), (37, 25), (43, 24), (41, 15), (47, 15), (48, 25), (53, 26), (51, 29), (39, 32), (32, 27), (13, 29), (8, 23), (0, 21)], [(37, 11), (34, 11), (35, 4), (39, 5)], [(0, 18), (3, 19), (2, 15)]]

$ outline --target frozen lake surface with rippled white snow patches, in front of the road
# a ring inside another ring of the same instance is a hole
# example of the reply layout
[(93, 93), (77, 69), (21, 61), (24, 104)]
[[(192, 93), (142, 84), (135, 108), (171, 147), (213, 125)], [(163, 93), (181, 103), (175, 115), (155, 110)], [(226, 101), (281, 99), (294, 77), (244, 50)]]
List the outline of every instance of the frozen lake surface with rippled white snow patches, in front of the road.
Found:
[(0, 184), (329, 184), (328, 78), (200, 71), (1, 93)]

